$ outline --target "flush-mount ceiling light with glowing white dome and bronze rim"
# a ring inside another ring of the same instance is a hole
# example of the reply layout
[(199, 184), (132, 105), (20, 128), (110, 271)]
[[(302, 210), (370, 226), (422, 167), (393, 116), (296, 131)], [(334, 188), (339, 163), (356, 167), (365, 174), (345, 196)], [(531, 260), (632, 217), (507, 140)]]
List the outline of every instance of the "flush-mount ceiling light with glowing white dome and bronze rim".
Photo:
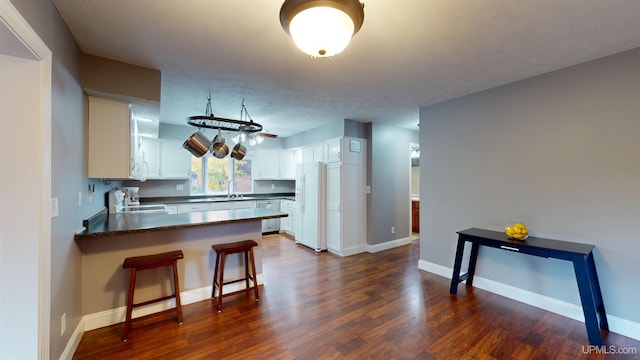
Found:
[(329, 57), (342, 52), (364, 21), (358, 0), (285, 0), (280, 24), (303, 52)]

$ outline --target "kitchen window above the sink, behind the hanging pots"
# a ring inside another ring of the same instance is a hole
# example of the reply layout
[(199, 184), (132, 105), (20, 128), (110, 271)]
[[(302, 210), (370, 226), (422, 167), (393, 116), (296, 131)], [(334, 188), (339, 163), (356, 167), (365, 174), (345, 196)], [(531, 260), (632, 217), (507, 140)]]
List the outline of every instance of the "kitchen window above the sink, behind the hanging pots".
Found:
[[(253, 192), (251, 160), (191, 157), (191, 194), (226, 195)], [(231, 187), (231, 189), (229, 189)]]

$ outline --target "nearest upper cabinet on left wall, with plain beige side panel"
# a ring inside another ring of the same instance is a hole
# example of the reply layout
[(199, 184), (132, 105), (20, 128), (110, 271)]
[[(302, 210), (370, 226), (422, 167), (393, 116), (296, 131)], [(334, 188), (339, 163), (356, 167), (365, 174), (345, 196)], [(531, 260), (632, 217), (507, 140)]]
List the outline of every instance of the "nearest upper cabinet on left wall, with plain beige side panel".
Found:
[(144, 180), (140, 137), (128, 103), (89, 97), (89, 178)]

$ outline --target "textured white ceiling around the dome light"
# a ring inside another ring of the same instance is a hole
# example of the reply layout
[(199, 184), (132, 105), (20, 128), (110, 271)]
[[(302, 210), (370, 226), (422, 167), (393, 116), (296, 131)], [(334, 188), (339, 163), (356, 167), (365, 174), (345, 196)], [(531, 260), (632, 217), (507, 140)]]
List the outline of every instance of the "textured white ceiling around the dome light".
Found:
[(640, 46), (636, 0), (364, 0), (332, 59), (282, 30), (282, 0), (54, 0), (83, 52), (162, 71), (160, 120), (254, 121), (281, 136), (342, 119), (417, 129), (418, 109)]

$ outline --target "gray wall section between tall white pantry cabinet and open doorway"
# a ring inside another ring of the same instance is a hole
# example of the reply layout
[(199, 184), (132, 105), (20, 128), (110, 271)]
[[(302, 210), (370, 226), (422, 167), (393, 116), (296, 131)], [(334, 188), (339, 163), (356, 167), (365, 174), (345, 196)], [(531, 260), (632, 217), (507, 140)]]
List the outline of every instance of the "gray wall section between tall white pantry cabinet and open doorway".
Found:
[[(410, 143), (418, 143), (418, 132), (393, 125), (371, 123), (367, 202), (369, 245), (411, 236)], [(391, 233), (395, 227), (395, 234)]]

